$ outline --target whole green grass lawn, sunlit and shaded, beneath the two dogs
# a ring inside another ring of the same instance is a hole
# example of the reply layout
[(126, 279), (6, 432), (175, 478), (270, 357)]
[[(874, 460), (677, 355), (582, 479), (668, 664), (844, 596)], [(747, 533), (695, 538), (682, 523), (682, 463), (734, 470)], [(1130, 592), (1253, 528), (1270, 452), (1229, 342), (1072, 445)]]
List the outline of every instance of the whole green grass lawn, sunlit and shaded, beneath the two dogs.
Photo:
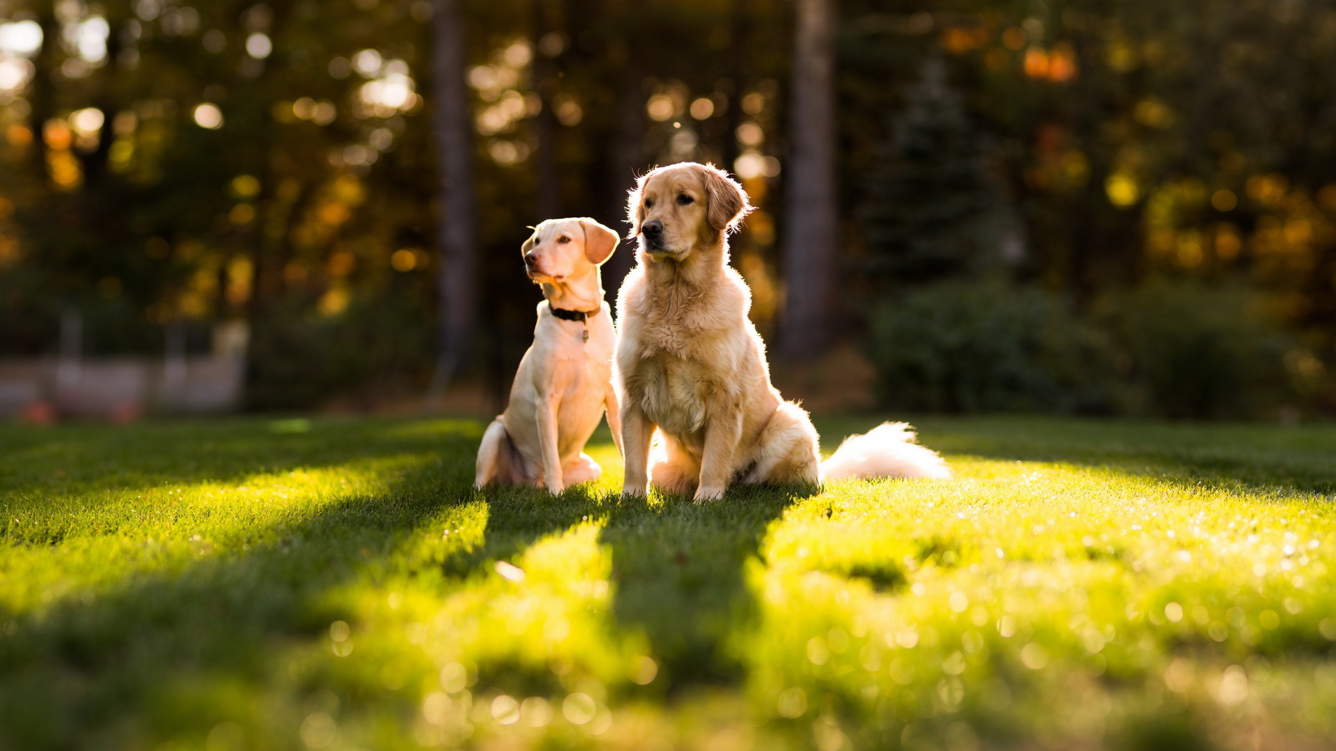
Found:
[(1336, 744), (1336, 428), (919, 426), (955, 480), (705, 506), (605, 433), (552, 498), (474, 421), (3, 426), (0, 748)]

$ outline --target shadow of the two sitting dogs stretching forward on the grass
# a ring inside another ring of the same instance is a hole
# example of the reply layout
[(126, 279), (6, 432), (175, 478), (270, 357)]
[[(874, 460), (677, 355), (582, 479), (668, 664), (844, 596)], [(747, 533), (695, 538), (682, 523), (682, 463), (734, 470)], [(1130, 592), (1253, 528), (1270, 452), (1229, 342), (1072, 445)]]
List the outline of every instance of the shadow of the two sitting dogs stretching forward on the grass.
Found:
[[(644, 633), (660, 665), (656, 690), (736, 680), (741, 667), (727, 639), (751, 620), (756, 603), (744, 580), (771, 522), (815, 494), (810, 488), (735, 488), (716, 502), (685, 496), (623, 498), (587, 486), (560, 498), (541, 490), (489, 488), (486, 541), (446, 561), (456, 576), (485, 571), (585, 520), (601, 522), (612, 552), (616, 624)], [(498, 665), (498, 669), (510, 669)], [(532, 682), (528, 682), (532, 686)]]

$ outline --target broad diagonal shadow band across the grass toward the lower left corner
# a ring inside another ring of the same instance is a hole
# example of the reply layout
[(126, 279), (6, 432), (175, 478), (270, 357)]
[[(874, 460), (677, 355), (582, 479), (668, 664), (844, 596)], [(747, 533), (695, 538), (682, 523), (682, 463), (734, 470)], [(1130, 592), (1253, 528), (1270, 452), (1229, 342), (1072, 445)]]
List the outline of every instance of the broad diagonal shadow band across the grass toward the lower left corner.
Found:
[[(330, 611), (331, 588), (387, 557), (405, 531), (468, 500), (462, 488), (424, 490), (347, 497), (281, 527), (273, 543), (138, 575), (120, 589), (9, 621), (0, 637), (0, 747), (136, 747), (143, 734), (207, 731), (253, 714), (219, 694), (258, 695), (283, 647), (313, 643), (346, 617)], [(200, 682), (212, 686), (198, 687), (191, 706), (179, 691)]]

